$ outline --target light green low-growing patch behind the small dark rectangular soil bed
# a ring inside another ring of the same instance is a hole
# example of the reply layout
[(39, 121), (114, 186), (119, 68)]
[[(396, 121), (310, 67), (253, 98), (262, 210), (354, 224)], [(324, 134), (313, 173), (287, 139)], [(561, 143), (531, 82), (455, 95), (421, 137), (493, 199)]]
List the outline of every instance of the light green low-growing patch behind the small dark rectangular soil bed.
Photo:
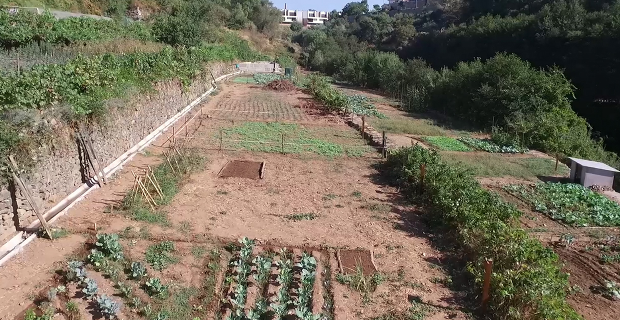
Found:
[[(260, 152), (281, 152), (282, 137), (284, 136), (284, 150), (288, 154), (301, 152), (313, 152), (318, 155), (334, 157), (348, 155), (359, 157), (370, 150), (358, 137), (353, 137), (348, 132), (325, 132), (318, 129), (308, 129), (293, 123), (262, 123), (246, 122), (240, 126), (222, 129), (223, 139), (241, 140), (226, 142), (233, 148), (242, 148)], [(335, 134), (337, 133), (337, 134)], [(337, 136), (345, 136), (350, 139), (332, 142)], [(319, 138), (321, 137), (321, 138)], [(219, 139), (219, 137), (218, 137)], [(332, 139), (325, 141), (324, 139)], [(243, 142), (250, 141), (250, 142)], [(259, 143), (268, 142), (268, 143)], [(346, 144), (346, 146), (343, 146)]]

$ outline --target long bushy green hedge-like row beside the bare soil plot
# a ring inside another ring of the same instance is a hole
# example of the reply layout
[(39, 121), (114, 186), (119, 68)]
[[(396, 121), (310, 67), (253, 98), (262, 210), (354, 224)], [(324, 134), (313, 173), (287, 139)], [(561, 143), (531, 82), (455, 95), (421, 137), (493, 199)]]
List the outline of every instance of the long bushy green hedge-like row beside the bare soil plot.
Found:
[(443, 226), (455, 231), (479, 288), (485, 259), (494, 261), (488, 309), (492, 318), (582, 319), (566, 301), (568, 275), (557, 254), (521, 230), (521, 212), (481, 188), (469, 171), (418, 145), (392, 151), (384, 169), (401, 187), (417, 190), (422, 164), (423, 199)]

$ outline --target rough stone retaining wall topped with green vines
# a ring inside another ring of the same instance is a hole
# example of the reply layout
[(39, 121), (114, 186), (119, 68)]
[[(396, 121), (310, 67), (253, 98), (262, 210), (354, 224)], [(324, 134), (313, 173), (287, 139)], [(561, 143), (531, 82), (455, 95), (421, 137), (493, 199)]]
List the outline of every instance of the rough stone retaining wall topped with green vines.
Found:
[[(234, 65), (214, 64), (208, 69), (213, 76), (219, 77), (233, 72)], [(157, 84), (154, 93), (136, 95), (128, 102), (108, 102), (110, 113), (104, 123), (87, 127), (102, 165), (113, 162), (210, 89), (212, 81), (211, 74), (206, 71), (203, 79), (195, 80), (185, 91), (178, 81), (170, 81)], [(22, 175), (42, 212), (94, 175), (94, 170), (84, 160), (76, 135), (71, 129), (64, 129), (55, 132), (59, 137), (55, 139), (54, 147), (37, 151), (37, 165)], [(0, 185), (0, 245), (36, 219), (19, 187), (15, 187), (12, 181)]]

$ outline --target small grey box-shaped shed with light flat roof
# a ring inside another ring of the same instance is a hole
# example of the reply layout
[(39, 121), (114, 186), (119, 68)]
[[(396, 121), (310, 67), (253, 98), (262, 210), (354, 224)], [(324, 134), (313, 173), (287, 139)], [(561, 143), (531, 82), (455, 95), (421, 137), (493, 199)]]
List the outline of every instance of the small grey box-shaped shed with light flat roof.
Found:
[(614, 174), (620, 172), (601, 162), (570, 159), (570, 181), (589, 187), (593, 184), (611, 188), (614, 184)]

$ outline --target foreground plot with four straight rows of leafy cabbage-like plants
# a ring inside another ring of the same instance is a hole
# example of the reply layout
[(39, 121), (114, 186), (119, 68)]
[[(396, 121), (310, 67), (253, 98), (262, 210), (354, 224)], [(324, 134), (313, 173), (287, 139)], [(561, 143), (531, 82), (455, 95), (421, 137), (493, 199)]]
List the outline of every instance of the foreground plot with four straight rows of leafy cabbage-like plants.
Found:
[(275, 252), (248, 238), (239, 242), (224, 277), (221, 319), (321, 319), (324, 253), (286, 248)]

